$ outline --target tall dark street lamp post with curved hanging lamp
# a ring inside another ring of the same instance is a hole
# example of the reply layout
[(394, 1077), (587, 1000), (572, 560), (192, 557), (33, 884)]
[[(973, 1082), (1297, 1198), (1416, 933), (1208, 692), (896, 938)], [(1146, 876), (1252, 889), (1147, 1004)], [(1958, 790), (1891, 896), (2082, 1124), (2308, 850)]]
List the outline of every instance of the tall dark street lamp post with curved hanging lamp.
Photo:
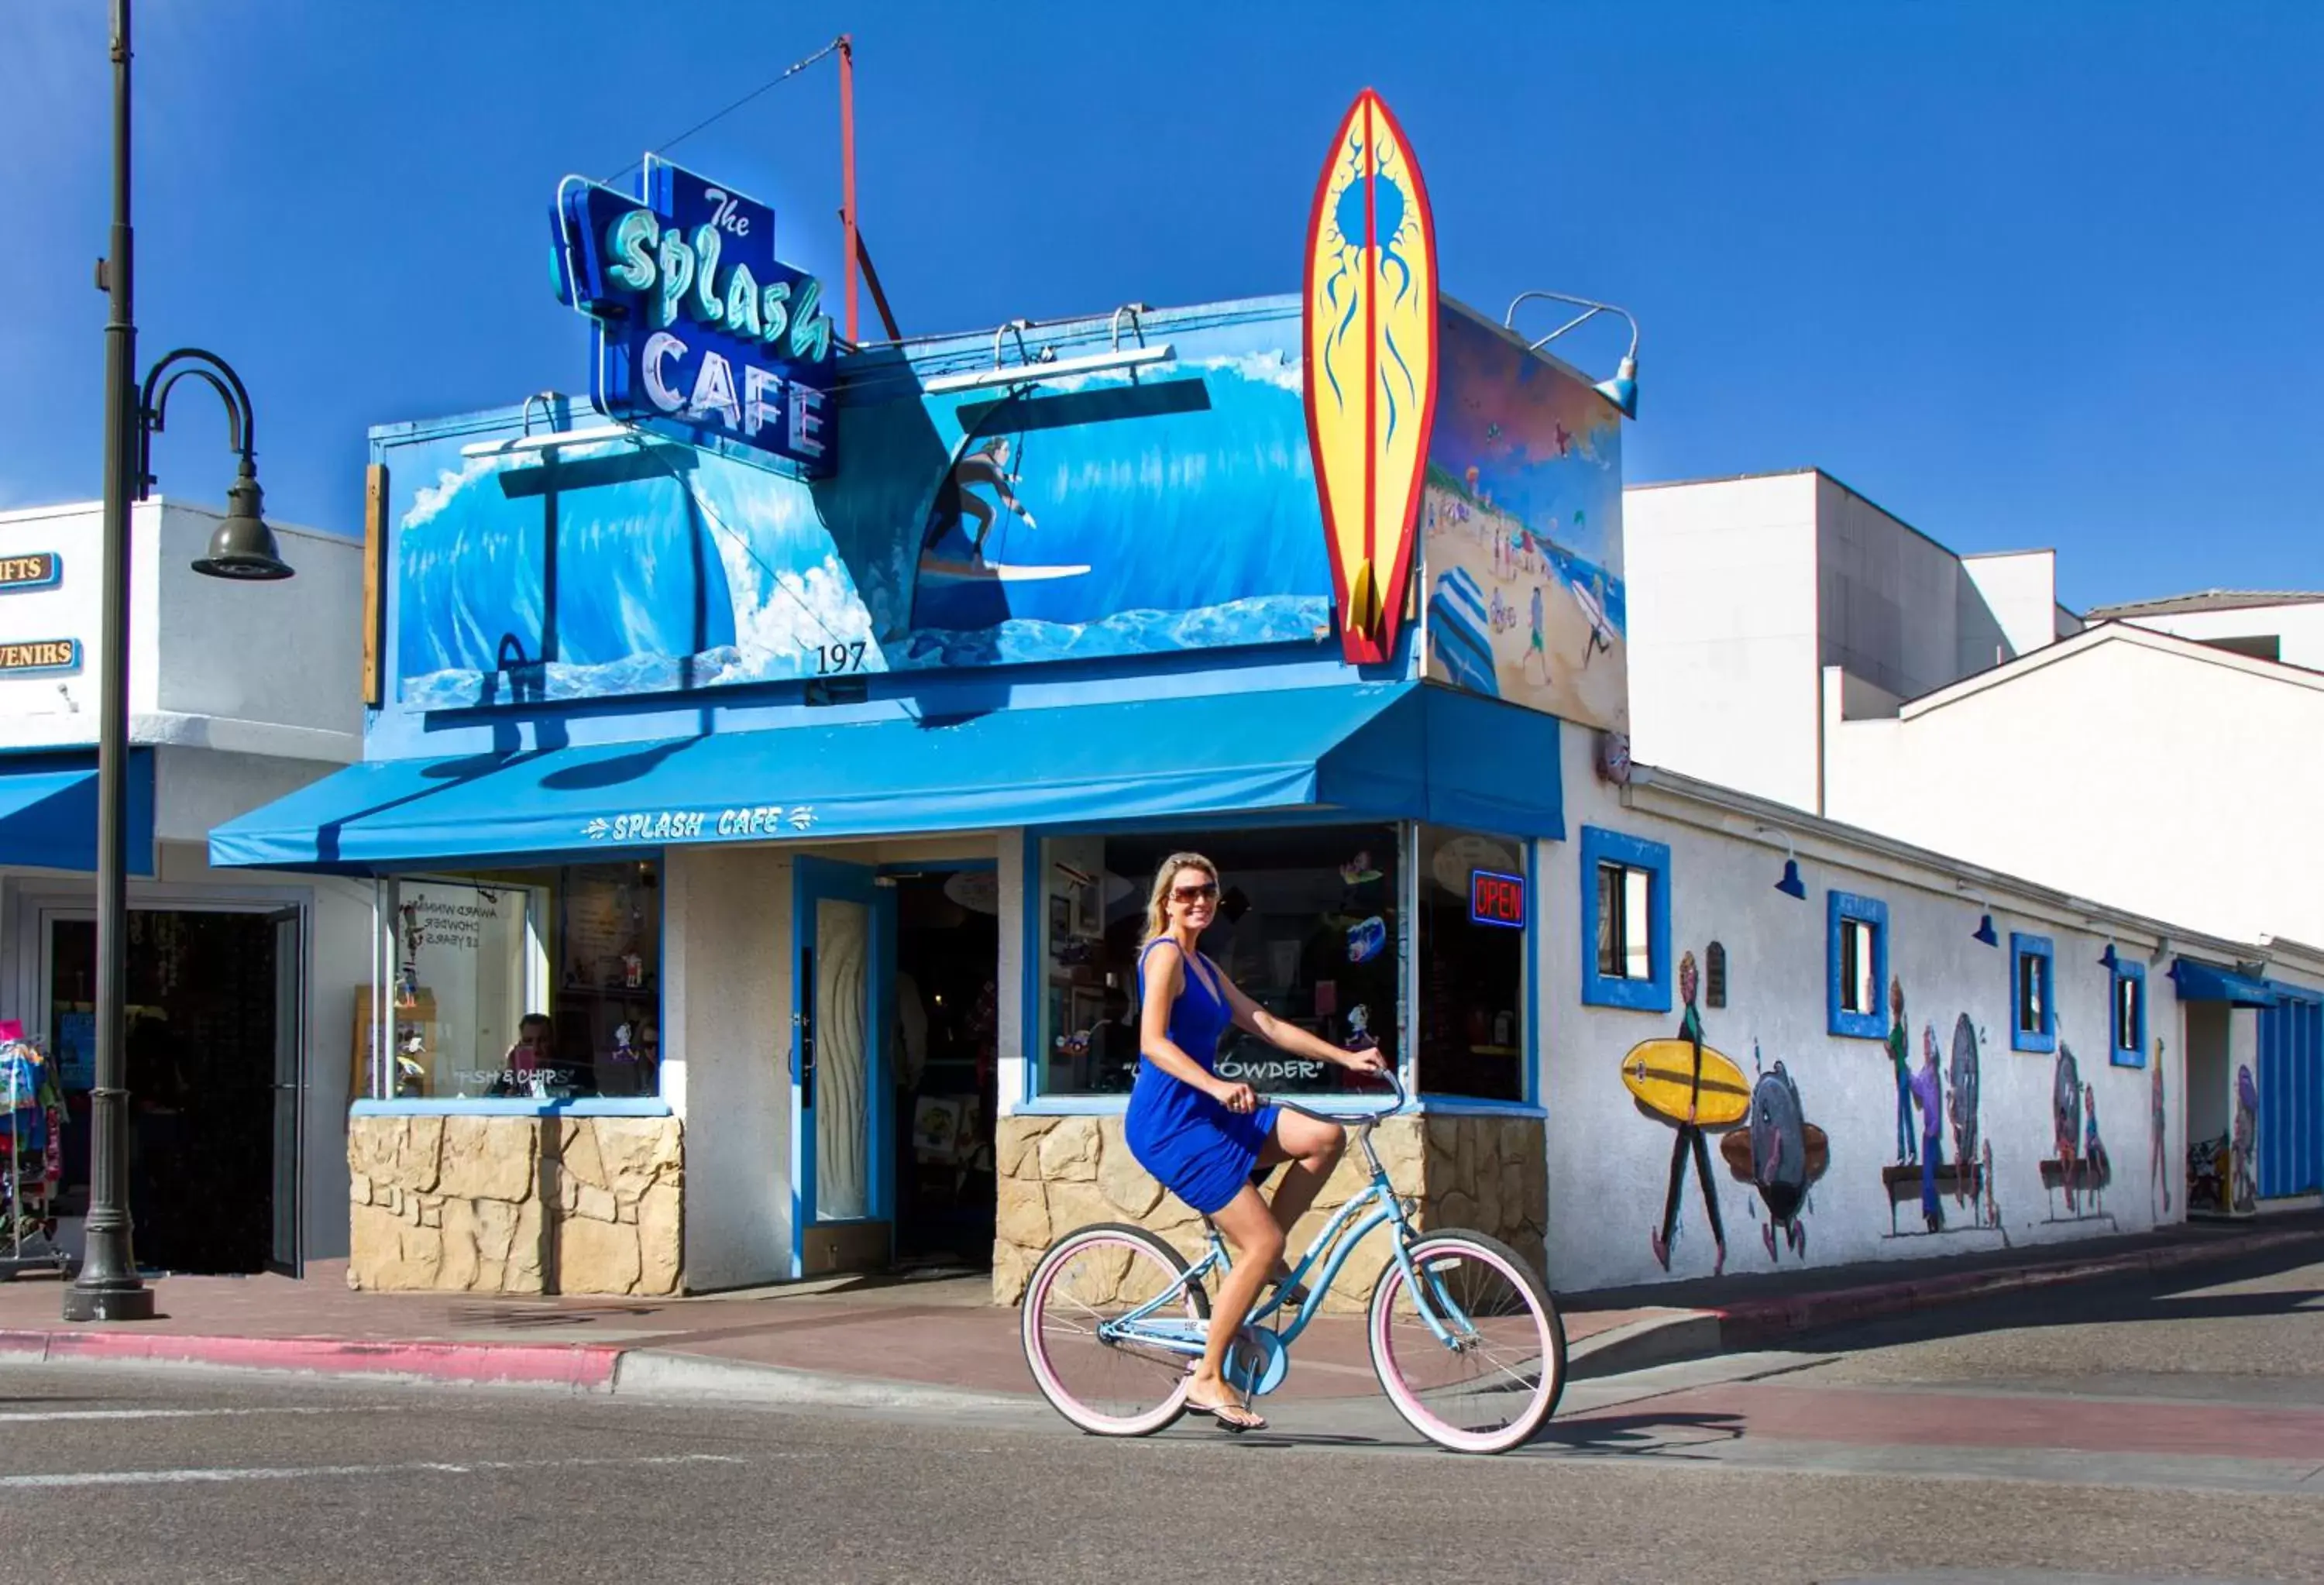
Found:
[(186, 349), (137, 383), (135, 246), (130, 235), (130, 0), (114, 0), (114, 223), (98, 281), (112, 302), (105, 321), (105, 609), (98, 679), (98, 1062), (88, 1090), (88, 1220), (81, 1271), (65, 1290), (65, 1320), (151, 1320), (153, 1290), (137, 1276), (128, 1206), (128, 648), (130, 502), (153, 486), (151, 437), (163, 428), (170, 388), (193, 374), (228, 409), (239, 456), (225, 521), (195, 572), (230, 579), (288, 579), (260, 516), (251, 400), (225, 360)]

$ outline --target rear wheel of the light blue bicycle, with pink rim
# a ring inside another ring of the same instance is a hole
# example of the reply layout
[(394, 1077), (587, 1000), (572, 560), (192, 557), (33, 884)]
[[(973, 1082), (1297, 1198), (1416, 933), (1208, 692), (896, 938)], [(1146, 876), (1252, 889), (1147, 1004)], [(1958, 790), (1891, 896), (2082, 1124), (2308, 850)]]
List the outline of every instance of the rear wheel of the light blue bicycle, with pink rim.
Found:
[(1025, 1283), (1020, 1329), (1050, 1408), (1097, 1436), (1150, 1436), (1185, 1413), (1188, 1355), (1099, 1336), (1146, 1306), (1143, 1320), (1197, 1339), (1211, 1318), (1211, 1294), (1185, 1281), (1185, 1260), (1143, 1227), (1102, 1222), (1048, 1248)]

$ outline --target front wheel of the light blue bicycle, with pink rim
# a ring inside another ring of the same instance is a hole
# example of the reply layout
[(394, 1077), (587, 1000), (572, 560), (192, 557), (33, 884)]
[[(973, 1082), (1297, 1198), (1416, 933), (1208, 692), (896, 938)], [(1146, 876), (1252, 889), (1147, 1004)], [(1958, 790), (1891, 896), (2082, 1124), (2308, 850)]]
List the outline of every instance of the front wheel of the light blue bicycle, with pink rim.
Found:
[(1566, 1387), (1566, 1329), (1525, 1260), (1480, 1232), (1413, 1241), (1371, 1290), (1371, 1369), (1404, 1420), (1455, 1453), (1508, 1453)]

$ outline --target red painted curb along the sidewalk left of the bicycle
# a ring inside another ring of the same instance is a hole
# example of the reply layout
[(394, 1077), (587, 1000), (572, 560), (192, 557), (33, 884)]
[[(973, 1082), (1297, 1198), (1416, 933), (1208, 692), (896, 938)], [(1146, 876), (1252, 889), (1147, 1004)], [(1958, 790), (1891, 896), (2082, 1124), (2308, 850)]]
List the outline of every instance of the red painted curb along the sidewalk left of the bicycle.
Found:
[(604, 1343), (409, 1343), (342, 1336), (170, 1336), (153, 1332), (5, 1332), (0, 1355), (230, 1364), (328, 1376), (548, 1383), (604, 1390), (621, 1348)]

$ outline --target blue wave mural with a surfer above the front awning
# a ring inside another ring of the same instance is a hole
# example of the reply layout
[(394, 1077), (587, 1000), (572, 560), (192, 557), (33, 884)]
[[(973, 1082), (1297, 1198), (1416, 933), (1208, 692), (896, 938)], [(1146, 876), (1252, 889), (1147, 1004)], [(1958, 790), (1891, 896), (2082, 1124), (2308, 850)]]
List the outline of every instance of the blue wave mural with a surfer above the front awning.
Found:
[(946, 395), (897, 360), (818, 481), (644, 432), (488, 456), (476, 425), (383, 432), (400, 697), (1327, 641), (1297, 300), (1167, 335), (1160, 363)]

